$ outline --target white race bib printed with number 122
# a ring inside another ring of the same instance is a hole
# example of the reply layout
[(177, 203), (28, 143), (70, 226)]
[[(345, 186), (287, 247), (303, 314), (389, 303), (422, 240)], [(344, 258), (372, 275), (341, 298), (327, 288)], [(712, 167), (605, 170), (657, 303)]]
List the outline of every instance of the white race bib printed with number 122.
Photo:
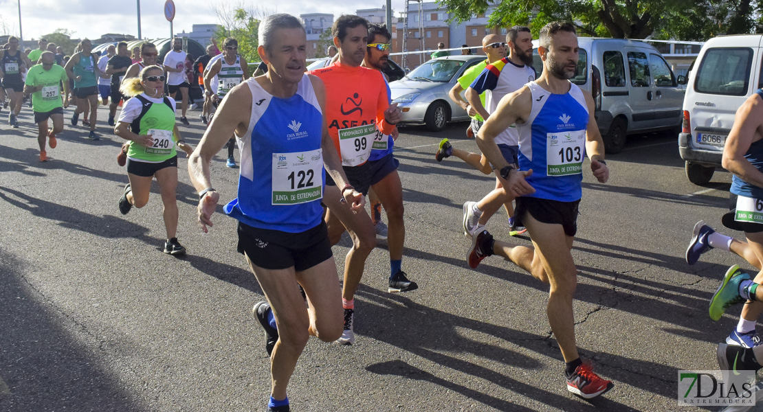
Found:
[(310, 152), (273, 153), (272, 204), (296, 205), (323, 199), (324, 157)]

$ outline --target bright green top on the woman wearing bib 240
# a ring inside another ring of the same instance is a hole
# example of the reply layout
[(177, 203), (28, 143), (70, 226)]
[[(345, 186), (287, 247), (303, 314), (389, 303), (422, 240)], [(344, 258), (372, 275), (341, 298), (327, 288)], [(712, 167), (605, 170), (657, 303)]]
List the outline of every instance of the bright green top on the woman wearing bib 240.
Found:
[(169, 98), (164, 97), (163, 104), (153, 103), (140, 95), (133, 98), (140, 100), (143, 110), (133, 123), (130, 123), (130, 129), (139, 135), (153, 135), (153, 146), (147, 148), (136, 142), (130, 142), (127, 157), (152, 163), (173, 158), (177, 155), (175, 139), (172, 136), (172, 131), (175, 129), (175, 110), (170, 108), (172, 103)]

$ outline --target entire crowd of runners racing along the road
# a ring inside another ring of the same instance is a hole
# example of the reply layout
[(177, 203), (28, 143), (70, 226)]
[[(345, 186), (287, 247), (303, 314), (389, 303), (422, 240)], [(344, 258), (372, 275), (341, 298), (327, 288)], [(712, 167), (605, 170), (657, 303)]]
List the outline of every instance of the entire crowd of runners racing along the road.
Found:
[[(115, 206), (122, 214), (145, 206), (156, 178), (166, 254), (186, 252), (176, 238), (175, 147), (189, 156), (188, 174), (198, 191), (198, 222), (204, 232), (213, 227), (221, 199), (214, 189), (217, 177), (210, 173), (211, 160), (227, 147), (227, 166), (237, 169), (239, 178), (237, 196), (223, 209), (237, 219), (238, 251), (266, 295), (266, 301), (254, 305), (253, 315), (265, 331), (271, 359), (271, 411), (289, 410), (288, 382), (309, 337), (355, 342), (354, 324), (362, 321), (362, 311), (354, 297), (377, 238), (388, 244), (388, 292), (418, 288), (402, 264), (404, 203), (394, 156), (401, 109), (391, 104), (388, 78), (382, 72), (391, 34), (354, 15), (336, 19), (332, 30), (335, 61), (306, 73), (307, 40), (301, 21), (289, 14), (263, 19), (257, 50), (262, 63), (255, 77), (250, 77), (238, 40), (232, 37), (221, 43), (222, 50), (211, 44), (198, 59), (188, 56), (182, 39), (175, 38), (161, 64), (153, 43), (132, 51), (127, 43), (118, 43), (98, 56), (85, 39), (69, 57), (44, 40), (27, 55), (11, 37), (0, 51), (0, 97), (3, 102), (8, 98), (8, 124), (18, 127), (24, 97), (30, 97), (28, 121), (34, 118), (37, 125), (40, 161), (49, 160), (47, 149), (58, 144), (56, 135), (66, 123), (64, 108), (75, 107), (72, 126), (82, 117), (89, 139), (99, 139), (98, 104), (108, 104), (108, 121), (101, 122), (124, 139), (116, 160), (127, 171), (127, 184), (121, 196), (115, 194)], [(476, 268), (485, 258), (499, 255), (547, 285), (546, 315), (565, 362), (567, 388), (595, 398), (613, 388), (613, 382), (597, 375), (590, 360), (578, 355), (573, 315), (577, 269), (571, 248), (583, 174), (606, 183), (610, 170), (593, 97), (568, 80), (578, 62), (575, 27), (547, 24), (537, 40), (540, 74), (531, 65), (533, 36), (528, 27), (511, 27), (505, 38), (489, 34), (482, 40), (485, 61), (465, 72), (449, 94), (472, 117), (466, 135), (476, 139), (481, 153), (456, 149), (444, 139), (435, 158), (459, 158), (484, 174), (494, 174), (494, 190), (463, 205), (463, 229), (472, 239), (466, 260)], [(199, 121), (206, 129), (195, 148), (182, 139), (178, 127), (189, 124), (189, 88), (195, 81), (189, 72), (198, 75), (204, 90)], [(758, 91), (737, 113), (723, 157), (724, 167), (734, 173), (732, 193), (738, 196), (736, 209), (723, 222), (744, 231), (746, 241), (700, 221), (687, 249), (687, 263), (721, 248), (761, 268), (763, 225), (758, 225), (763, 213), (755, 208), (763, 199), (761, 122), (763, 91)], [(371, 199), (370, 213), (366, 196)], [(530, 242), (497, 240), (485, 230), (501, 206), (510, 235), (526, 234)], [(757, 222), (740, 222), (740, 213), (761, 216)], [(344, 232), (352, 238), (352, 247), (340, 282), (332, 246)], [(730, 305), (747, 302), (739, 325), (718, 349), (726, 369), (729, 359), (740, 353), (747, 369), (761, 369), (754, 353), (760, 343), (755, 321), (763, 311), (760, 283), (763, 274), (753, 276), (734, 266), (713, 296), (713, 320)]]

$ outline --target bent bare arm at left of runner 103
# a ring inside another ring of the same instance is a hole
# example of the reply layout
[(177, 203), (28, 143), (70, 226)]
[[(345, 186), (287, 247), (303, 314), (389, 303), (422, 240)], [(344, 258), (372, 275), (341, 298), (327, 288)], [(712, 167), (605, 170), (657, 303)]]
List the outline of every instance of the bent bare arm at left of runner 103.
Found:
[(488, 161), (493, 164), (498, 181), (506, 188), (507, 193), (514, 196), (523, 196), (535, 192), (535, 189), (525, 180), (525, 177), (533, 174), (533, 171), (532, 169), (529, 171), (510, 171), (508, 180), (501, 177), (501, 169), (508, 166), (509, 162), (506, 161), (504, 155), (501, 155), (501, 150), (495, 143), (495, 136), (501, 134), (512, 124), (530, 117), (532, 107), (533, 97), (529, 88), (523, 87), (507, 94), (498, 102), (498, 107), (496, 107), (493, 115), (485, 120), (485, 124), (479, 129), (476, 136), (477, 147), (485, 155), (485, 158), (488, 158)]

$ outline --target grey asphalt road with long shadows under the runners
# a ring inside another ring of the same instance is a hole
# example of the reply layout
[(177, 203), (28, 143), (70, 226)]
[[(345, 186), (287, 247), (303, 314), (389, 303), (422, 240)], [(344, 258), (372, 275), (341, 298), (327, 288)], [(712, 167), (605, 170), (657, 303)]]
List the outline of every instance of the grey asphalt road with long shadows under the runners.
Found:
[[(201, 233), (197, 196), (180, 155), (179, 240), (188, 256), (162, 253), (162, 203), (127, 216), (117, 201), (127, 174), (114, 160), (120, 139), (99, 142), (67, 127), (52, 160), (37, 161), (37, 129), (0, 119), (0, 410), (262, 410), (269, 359), (251, 315), (262, 292), (236, 252), (235, 221), (217, 214)], [(195, 145), (198, 111), (182, 126)], [(720, 226), (731, 177), (689, 183), (673, 136), (635, 136), (607, 158), (610, 181), (584, 164), (573, 254), (578, 264), (578, 347), (615, 388), (588, 402), (569, 394), (546, 319), (547, 287), (498, 257), (469, 269), (462, 203), (491, 177), (433, 153), (449, 137), (476, 151), (465, 123), (443, 133), (401, 129), (403, 269), (420, 289), (387, 292), (380, 241), (356, 302), (356, 344), (311, 340), (289, 386), (292, 410), (691, 410), (679, 407), (678, 370), (717, 369), (716, 343), (739, 311), (721, 321), (707, 302), (739, 257), (710, 251), (684, 262), (694, 223)], [(238, 154), (237, 154), (238, 158)], [(227, 202), (237, 170), (213, 162)], [(502, 212), (501, 212), (502, 213)], [(507, 220), (488, 225), (507, 239)], [(739, 232), (726, 231), (740, 237)], [(516, 241), (529, 243), (527, 238)], [(349, 238), (334, 248), (343, 267)], [(744, 263), (742, 267), (749, 267)]]

